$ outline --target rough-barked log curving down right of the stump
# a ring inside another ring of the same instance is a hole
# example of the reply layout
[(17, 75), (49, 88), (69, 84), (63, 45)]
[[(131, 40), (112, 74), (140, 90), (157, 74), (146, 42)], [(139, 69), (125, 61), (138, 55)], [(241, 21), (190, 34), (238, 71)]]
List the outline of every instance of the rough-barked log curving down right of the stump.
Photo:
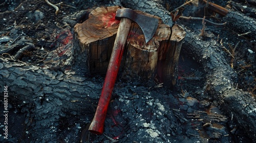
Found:
[(222, 110), (234, 118), (248, 135), (256, 139), (256, 102), (246, 91), (235, 89), (237, 74), (221, 52), (217, 41), (203, 41), (199, 36), (186, 29), (183, 50), (202, 63), (207, 72), (206, 87), (215, 97)]

